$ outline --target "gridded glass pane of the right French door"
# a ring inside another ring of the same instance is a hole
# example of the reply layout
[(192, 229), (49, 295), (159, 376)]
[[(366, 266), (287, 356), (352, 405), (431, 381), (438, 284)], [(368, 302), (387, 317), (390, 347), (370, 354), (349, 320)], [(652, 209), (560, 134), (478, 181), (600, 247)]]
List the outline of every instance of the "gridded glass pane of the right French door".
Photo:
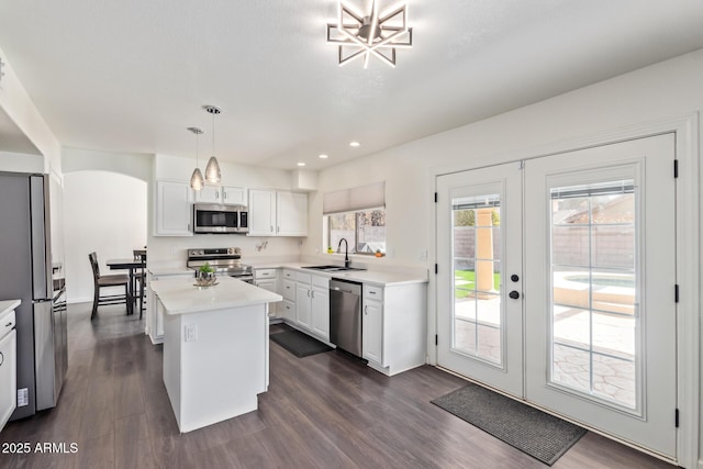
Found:
[(634, 181), (550, 192), (550, 381), (638, 409)]

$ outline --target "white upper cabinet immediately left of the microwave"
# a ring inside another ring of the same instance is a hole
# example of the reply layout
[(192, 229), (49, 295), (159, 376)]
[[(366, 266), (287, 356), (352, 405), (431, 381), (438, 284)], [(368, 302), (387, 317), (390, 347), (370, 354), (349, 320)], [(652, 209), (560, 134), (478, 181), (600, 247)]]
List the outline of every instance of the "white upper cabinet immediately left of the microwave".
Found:
[(192, 189), (188, 182), (156, 181), (155, 236), (192, 236)]

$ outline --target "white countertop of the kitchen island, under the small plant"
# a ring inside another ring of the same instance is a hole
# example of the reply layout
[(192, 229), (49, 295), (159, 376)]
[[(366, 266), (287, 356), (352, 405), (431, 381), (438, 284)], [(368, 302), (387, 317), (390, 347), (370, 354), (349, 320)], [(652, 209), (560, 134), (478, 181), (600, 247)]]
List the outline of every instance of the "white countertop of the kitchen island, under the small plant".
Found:
[(193, 287), (194, 282), (194, 278), (178, 277), (153, 281), (150, 287), (167, 314), (231, 310), (283, 300), (280, 294), (226, 276), (217, 277), (219, 284), (213, 287)]

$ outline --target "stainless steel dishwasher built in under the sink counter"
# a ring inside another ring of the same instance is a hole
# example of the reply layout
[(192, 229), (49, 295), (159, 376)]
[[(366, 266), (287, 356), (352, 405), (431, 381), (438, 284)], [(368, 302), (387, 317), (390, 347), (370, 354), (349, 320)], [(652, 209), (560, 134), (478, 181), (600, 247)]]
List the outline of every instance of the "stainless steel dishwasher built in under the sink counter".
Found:
[(330, 342), (361, 357), (361, 283), (330, 281)]

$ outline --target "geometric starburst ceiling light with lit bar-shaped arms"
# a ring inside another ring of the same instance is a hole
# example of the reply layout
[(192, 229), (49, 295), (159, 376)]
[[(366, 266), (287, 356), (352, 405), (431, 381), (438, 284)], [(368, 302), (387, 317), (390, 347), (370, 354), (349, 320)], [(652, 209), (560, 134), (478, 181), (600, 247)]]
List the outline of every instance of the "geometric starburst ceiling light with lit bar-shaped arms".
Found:
[(408, 27), (408, 5), (379, 14), (376, 0), (368, 15), (354, 11), (343, 1), (336, 23), (327, 24), (327, 42), (338, 44), (339, 65), (364, 58), (367, 68), (371, 55), (391, 67), (395, 66), (395, 49), (413, 45), (413, 29)]

